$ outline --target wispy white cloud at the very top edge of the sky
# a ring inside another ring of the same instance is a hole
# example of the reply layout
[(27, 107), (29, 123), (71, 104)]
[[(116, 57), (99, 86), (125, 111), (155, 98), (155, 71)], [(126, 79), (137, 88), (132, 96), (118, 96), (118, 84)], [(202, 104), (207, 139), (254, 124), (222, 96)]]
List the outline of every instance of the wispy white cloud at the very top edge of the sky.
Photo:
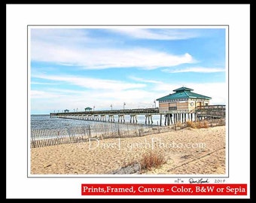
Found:
[(111, 29), (112, 32), (117, 32), (123, 35), (128, 35), (133, 38), (143, 38), (151, 40), (182, 40), (187, 38), (196, 38), (199, 34), (192, 30), (182, 29), (134, 29), (122, 28)]

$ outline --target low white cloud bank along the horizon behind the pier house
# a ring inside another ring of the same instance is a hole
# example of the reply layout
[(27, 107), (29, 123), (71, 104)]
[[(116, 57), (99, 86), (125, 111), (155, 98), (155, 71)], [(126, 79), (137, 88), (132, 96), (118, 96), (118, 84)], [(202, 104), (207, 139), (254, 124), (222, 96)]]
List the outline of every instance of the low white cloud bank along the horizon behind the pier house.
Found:
[[(52, 77), (53, 79), (53, 77)], [(56, 79), (56, 78), (55, 78)], [(154, 87), (148, 89), (46, 89), (44, 91), (32, 90), (32, 111), (40, 109), (45, 112), (62, 111), (64, 109), (78, 108), (84, 111), (87, 106), (96, 110), (122, 109), (123, 102), (126, 108), (152, 108), (154, 100), (170, 93), (182, 85), (172, 83), (154, 83)], [(184, 86), (194, 89), (201, 95), (212, 97), (211, 105), (227, 105), (226, 83), (184, 83)]]

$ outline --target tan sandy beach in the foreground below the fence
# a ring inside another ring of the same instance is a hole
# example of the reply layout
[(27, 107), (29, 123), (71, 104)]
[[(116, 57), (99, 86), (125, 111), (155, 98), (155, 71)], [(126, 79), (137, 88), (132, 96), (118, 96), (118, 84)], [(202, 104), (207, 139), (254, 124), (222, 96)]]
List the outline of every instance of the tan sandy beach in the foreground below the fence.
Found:
[(140, 174), (225, 174), (225, 140), (226, 126), (215, 126), (37, 147), (30, 150), (30, 169), (31, 174), (112, 174), (152, 153), (165, 163)]

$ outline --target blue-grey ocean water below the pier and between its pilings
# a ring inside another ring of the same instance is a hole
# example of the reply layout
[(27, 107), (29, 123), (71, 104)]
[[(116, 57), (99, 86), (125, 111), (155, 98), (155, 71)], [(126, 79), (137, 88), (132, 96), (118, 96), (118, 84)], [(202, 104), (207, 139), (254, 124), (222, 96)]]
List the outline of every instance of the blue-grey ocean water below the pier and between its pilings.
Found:
[[(163, 118), (162, 118), (163, 119)], [(115, 122), (117, 123), (118, 117), (114, 117)], [(137, 117), (137, 124), (143, 126), (157, 126), (160, 123), (160, 116), (154, 115), (152, 117), (153, 124), (145, 125), (145, 116), (139, 115)], [(72, 120), (72, 119), (62, 119), (62, 118), (50, 118), (50, 114), (44, 115), (31, 115), (30, 116), (30, 129), (66, 129), (73, 128), (77, 126), (87, 126), (90, 124), (99, 124), (99, 123), (108, 123), (101, 121), (90, 121), (90, 120)], [(130, 116), (125, 117), (125, 123), (130, 123)]]

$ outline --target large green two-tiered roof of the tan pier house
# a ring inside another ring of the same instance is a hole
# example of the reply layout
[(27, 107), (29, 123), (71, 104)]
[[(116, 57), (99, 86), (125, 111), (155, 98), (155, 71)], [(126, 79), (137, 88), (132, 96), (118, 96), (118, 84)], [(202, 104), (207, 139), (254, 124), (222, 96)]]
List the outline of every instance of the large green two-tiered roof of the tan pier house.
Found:
[(203, 99), (210, 99), (211, 97), (206, 95), (200, 95), (193, 91), (194, 89), (190, 89), (187, 87), (182, 86), (181, 88), (174, 89), (175, 93), (163, 96), (161, 98), (157, 98), (157, 101), (165, 101), (165, 100), (173, 100), (173, 99), (180, 99), (180, 98), (203, 98)]

